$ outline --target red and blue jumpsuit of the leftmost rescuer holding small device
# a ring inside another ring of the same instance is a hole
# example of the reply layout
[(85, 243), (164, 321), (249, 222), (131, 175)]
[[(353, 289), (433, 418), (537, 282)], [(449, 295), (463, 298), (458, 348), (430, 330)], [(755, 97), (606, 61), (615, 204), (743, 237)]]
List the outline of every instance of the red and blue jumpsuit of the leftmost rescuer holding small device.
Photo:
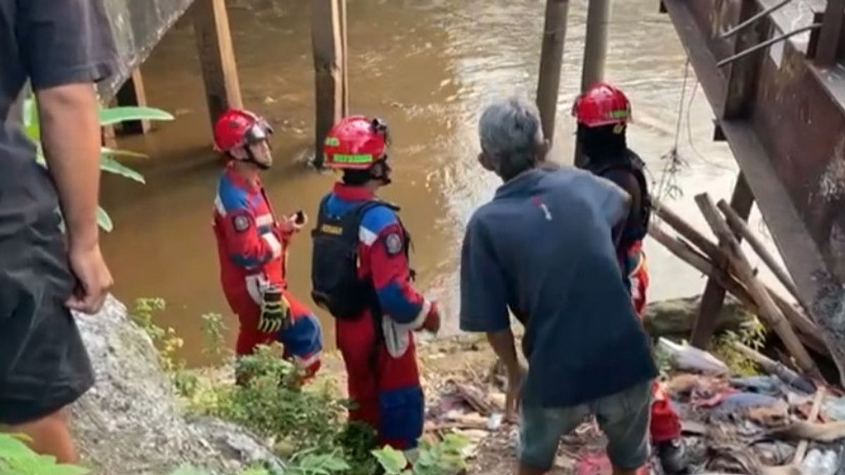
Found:
[[(287, 246), (294, 230), (276, 221), (260, 182), (249, 183), (232, 167), (226, 168), (217, 187), (214, 232), (223, 293), (240, 320), (237, 356), (279, 341), (285, 347), (285, 357), (297, 364), (303, 377), (315, 374), (323, 347), (319, 320), (293, 298), (285, 281)], [(281, 287), (290, 303), (293, 325), (263, 333), (258, 329), (262, 289), (271, 284)]]

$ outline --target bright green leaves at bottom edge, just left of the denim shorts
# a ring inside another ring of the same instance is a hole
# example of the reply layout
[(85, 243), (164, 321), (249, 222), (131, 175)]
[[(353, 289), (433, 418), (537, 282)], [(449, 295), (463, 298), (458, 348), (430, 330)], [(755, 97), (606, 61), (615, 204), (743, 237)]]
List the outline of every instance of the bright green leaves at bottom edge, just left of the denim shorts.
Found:
[[(466, 470), (463, 450), (469, 440), (460, 434), (448, 434), (443, 440), (430, 443), (421, 440), (417, 456), (409, 461), (405, 454), (390, 446), (373, 450), (387, 475), (454, 475)], [(409, 463), (413, 467), (408, 468)]]

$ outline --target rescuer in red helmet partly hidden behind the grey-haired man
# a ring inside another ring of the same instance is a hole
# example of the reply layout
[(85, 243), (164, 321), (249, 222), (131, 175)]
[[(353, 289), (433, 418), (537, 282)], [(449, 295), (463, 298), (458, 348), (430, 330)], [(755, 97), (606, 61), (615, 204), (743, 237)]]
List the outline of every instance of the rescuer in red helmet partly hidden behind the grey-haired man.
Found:
[[(618, 230), (617, 254), (632, 302), (642, 318), (649, 284), (642, 240), (648, 232), (651, 198), (644, 173), (645, 163), (628, 148), (625, 139), (630, 112), (628, 97), (621, 90), (603, 83), (586, 90), (572, 108), (572, 115), (578, 123), (577, 139), (586, 159), (584, 167), (630, 194), (630, 215), (624, 227)], [(651, 442), (656, 445), (666, 472), (683, 472), (678, 414), (657, 381), (652, 396)]]

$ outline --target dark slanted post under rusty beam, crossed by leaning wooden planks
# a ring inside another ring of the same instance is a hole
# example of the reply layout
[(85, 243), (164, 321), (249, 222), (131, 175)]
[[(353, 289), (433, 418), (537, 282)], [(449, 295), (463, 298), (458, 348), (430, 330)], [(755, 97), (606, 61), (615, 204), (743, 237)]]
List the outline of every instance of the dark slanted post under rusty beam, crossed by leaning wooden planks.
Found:
[[(731, 207), (737, 212), (738, 216), (747, 220), (751, 213), (751, 205), (754, 204), (754, 195), (751, 194), (751, 189), (748, 182), (745, 181), (745, 176), (742, 172), (737, 176), (737, 183), (733, 187), (733, 196), (731, 197)], [(722, 247), (724, 243), (719, 241), (719, 246)], [(728, 260), (724, 258), (714, 258), (714, 263), (721, 270), (728, 270)], [(701, 308), (698, 311), (698, 318), (695, 319), (693, 325), (692, 335), (690, 336), (690, 344), (694, 347), (706, 349), (710, 344), (713, 331), (716, 330), (716, 318), (722, 311), (722, 304), (725, 302), (725, 289), (719, 285), (714, 279), (708, 279), (704, 287), (704, 295), (701, 297)]]

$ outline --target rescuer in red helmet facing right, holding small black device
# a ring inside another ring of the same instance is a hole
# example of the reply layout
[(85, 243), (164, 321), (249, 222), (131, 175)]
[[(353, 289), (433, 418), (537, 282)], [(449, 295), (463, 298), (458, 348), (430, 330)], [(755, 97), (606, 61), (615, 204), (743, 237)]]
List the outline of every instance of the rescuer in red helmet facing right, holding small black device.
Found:
[[(311, 311), (287, 290), (287, 246), (306, 223), (302, 211), (276, 219), (259, 172), (273, 163), (270, 124), (229, 110), (215, 123), (217, 150), (228, 163), (217, 186), (214, 232), (226, 300), (240, 320), (238, 357), (279, 341), (308, 379), (320, 367), (322, 332)], [(243, 374), (238, 374), (243, 382)]]

